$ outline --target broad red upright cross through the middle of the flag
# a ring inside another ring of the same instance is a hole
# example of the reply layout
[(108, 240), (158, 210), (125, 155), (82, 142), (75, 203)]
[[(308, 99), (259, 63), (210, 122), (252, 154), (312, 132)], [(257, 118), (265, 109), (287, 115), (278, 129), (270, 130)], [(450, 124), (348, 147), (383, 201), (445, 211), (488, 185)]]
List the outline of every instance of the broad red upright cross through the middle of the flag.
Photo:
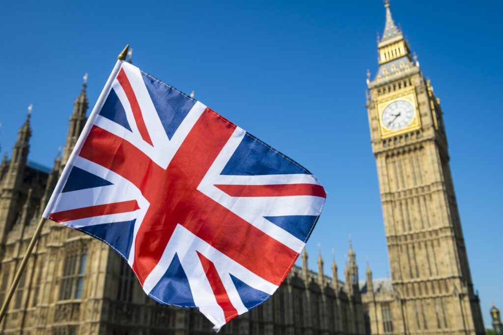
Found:
[(140, 283), (162, 257), (177, 224), (265, 280), (277, 284), (298, 254), (197, 190), (235, 126), (207, 109), (166, 170), (126, 140), (93, 126), (79, 153), (128, 179), (149, 208), (135, 242)]

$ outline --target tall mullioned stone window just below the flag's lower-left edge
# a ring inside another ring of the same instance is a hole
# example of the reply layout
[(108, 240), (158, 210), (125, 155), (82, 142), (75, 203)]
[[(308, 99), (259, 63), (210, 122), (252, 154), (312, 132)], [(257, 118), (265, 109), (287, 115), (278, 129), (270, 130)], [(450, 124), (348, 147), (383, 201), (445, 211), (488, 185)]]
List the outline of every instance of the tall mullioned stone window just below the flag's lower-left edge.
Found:
[(81, 299), (86, 271), (87, 249), (65, 257), (59, 300)]

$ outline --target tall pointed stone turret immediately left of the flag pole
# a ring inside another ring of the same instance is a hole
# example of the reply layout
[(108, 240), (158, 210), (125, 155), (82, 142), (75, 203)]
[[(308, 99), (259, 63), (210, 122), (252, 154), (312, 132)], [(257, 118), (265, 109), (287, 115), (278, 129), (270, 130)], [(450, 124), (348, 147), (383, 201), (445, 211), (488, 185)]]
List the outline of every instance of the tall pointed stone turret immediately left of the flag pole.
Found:
[(63, 149), (63, 157), (61, 159), (61, 169), (68, 162), (70, 154), (77, 143), (77, 139), (86, 124), (87, 117), (86, 113), (88, 110), (88, 96), (86, 94), (88, 74), (86, 73), (83, 77), (84, 81), (82, 84), (82, 90), (73, 102), (73, 113), (70, 116), (68, 135), (66, 136), (66, 144)]

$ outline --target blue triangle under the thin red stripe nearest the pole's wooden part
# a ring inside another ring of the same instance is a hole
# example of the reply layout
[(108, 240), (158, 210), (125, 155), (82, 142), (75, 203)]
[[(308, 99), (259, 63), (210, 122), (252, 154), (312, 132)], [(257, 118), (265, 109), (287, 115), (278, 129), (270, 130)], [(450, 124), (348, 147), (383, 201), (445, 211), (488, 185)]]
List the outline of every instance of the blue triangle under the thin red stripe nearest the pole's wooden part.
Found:
[(81, 227), (78, 230), (105, 241), (127, 259), (133, 242), (135, 222), (136, 219), (111, 222), (110, 224)]

